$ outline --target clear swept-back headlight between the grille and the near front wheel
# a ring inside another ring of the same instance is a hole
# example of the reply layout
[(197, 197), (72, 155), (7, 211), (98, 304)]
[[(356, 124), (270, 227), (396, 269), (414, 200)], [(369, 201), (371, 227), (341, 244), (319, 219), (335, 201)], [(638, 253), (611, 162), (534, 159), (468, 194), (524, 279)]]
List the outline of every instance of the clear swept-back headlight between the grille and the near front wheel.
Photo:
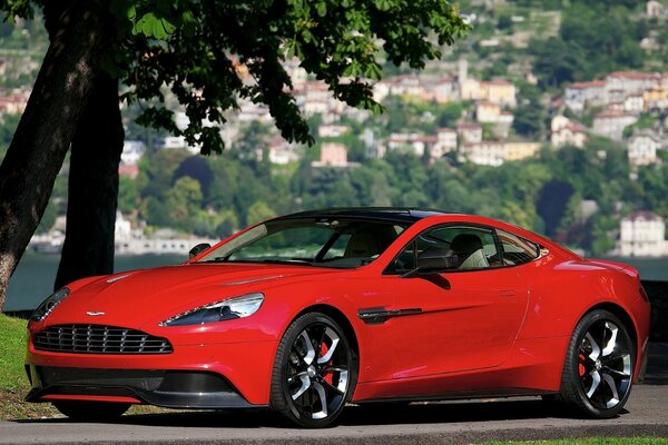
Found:
[(245, 318), (255, 314), (263, 301), (264, 295), (259, 293), (228, 298), (167, 318), (160, 323), (160, 326), (202, 325), (205, 323)]

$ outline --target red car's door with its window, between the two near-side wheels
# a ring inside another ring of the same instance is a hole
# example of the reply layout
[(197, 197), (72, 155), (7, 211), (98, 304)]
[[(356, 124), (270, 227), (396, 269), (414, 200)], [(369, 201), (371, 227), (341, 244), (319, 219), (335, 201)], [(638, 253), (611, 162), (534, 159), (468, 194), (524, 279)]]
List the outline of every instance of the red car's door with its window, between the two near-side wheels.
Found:
[[(402, 278), (430, 247), (456, 250), (456, 267)], [(493, 229), (448, 225), (428, 230), (397, 256), (385, 278), (395, 294), (393, 378), (490, 368), (508, 357), (524, 318), (528, 287), (519, 268), (503, 264)]]

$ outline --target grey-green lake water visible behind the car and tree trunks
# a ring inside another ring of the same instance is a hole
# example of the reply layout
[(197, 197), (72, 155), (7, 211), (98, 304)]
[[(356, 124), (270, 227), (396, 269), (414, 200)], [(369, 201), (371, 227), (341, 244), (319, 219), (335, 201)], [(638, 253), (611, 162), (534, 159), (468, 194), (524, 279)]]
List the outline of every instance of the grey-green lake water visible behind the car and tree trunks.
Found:
[[(183, 263), (180, 255), (117, 256), (116, 271), (145, 269)], [(640, 277), (648, 280), (668, 281), (668, 258), (609, 258), (633, 265)], [(27, 253), (9, 280), (4, 310), (35, 309), (52, 293), (60, 256)]]

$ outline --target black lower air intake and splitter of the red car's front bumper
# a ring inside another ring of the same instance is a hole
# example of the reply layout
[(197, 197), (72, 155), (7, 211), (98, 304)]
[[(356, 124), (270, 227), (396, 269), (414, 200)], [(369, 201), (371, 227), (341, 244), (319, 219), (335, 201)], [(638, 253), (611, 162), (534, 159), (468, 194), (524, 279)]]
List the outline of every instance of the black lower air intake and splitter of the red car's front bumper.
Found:
[(168, 408), (248, 408), (224, 377), (209, 372), (95, 369), (27, 365), (32, 389), (27, 402), (99, 399)]

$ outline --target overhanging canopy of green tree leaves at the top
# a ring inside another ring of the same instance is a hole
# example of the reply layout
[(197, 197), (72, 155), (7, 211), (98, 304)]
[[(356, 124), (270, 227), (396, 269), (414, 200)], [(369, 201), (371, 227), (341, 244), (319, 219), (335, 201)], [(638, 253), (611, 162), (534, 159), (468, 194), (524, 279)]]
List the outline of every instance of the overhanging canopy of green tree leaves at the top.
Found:
[[(129, 87), (125, 97), (143, 102), (141, 122), (168, 128), (205, 154), (223, 149), (218, 125), (245, 99), (266, 105), (285, 139), (313, 144), (286, 58), (298, 59), (337, 99), (380, 112), (373, 83), (385, 55), (422, 68), (440, 57), (434, 34), (452, 43), (469, 29), (443, 0), (112, 0), (111, 10), (120, 36), (108, 65)], [(166, 89), (185, 109), (186, 129), (175, 131), (166, 108), (156, 106)]]

